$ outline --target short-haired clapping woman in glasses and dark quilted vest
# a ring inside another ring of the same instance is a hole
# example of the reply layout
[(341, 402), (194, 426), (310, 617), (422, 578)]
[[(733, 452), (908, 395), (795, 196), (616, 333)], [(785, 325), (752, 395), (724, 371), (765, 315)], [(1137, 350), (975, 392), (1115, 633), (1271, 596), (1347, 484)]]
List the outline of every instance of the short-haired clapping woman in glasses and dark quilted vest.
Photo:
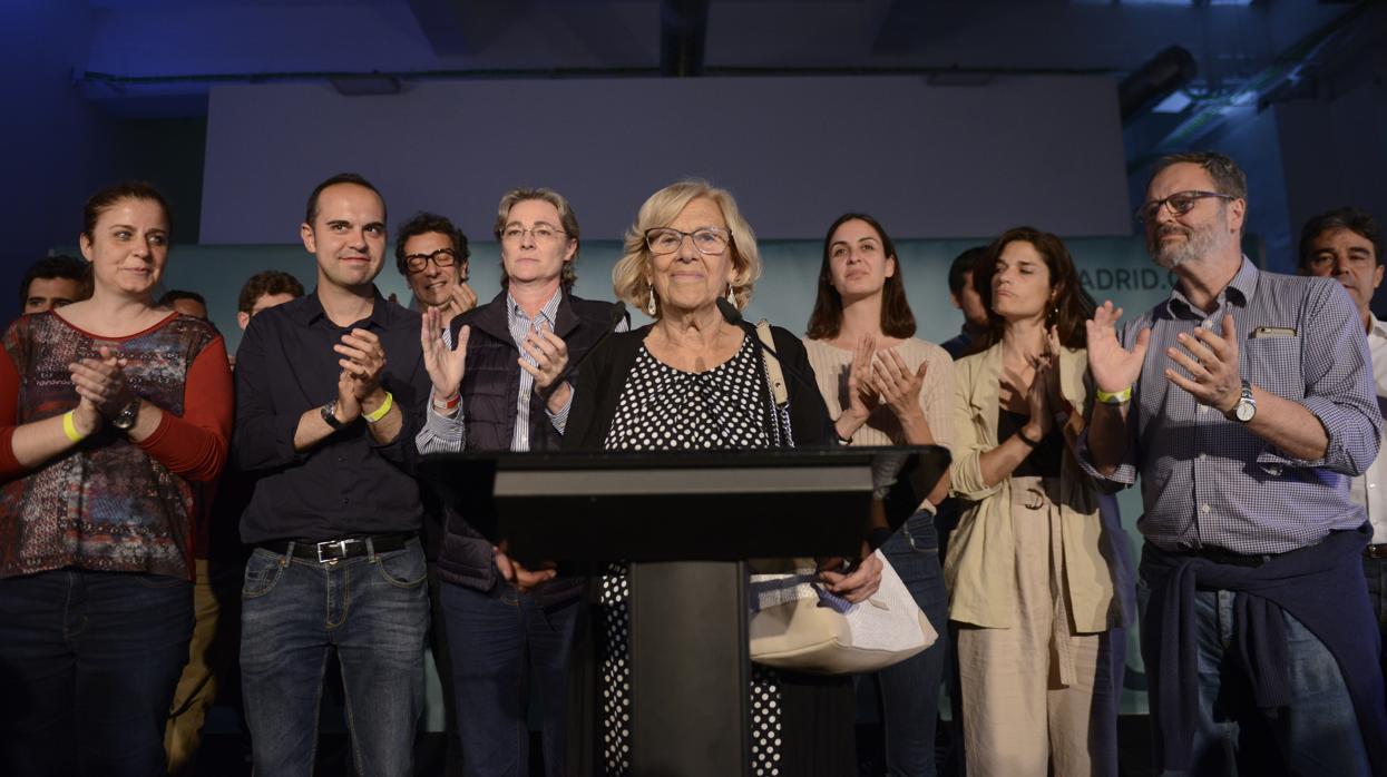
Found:
[[(433, 395), (416, 439), (423, 454), (460, 450), (556, 450), (577, 371), (608, 331), (609, 302), (570, 294), (577, 280), (578, 219), (548, 188), (501, 198), (501, 294), (448, 324), (437, 309), (420, 330)], [(454, 348), (448, 348), (451, 339)], [(540, 699), (545, 774), (563, 773), (567, 673), (581, 612), (581, 579), (528, 569), (492, 547), (466, 515), (448, 515), (442, 607), (451, 638), (463, 773), (530, 774), (527, 701)], [(524, 688), (535, 687), (535, 694)]]

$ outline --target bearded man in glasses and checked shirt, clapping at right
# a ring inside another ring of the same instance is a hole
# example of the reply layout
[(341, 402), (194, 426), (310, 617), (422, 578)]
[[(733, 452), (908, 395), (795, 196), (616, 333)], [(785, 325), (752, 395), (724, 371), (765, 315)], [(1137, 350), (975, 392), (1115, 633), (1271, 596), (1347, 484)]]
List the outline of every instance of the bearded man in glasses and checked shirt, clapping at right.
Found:
[(1142, 652), (1157, 766), (1384, 774), (1387, 702), (1348, 478), (1377, 454), (1368, 341), (1329, 278), (1240, 249), (1247, 179), (1221, 154), (1161, 159), (1137, 211), (1179, 283), (1118, 330), (1089, 321), (1090, 475), (1142, 475)]

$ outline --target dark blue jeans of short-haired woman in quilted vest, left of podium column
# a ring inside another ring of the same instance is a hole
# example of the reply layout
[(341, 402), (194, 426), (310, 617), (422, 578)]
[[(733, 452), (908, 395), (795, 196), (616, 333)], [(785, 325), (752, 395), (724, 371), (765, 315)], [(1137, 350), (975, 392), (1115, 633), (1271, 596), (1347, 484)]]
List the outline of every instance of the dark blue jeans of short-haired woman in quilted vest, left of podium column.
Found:
[[(528, 699), (538, 701), (544, 771), (563, 774), (569, 658), (581, 601), (542, 607), (498, 582), (490, 591), (442, 583), (467, 777), (530, 774)], [(534, 691), (531, 693), (531, 686)]]

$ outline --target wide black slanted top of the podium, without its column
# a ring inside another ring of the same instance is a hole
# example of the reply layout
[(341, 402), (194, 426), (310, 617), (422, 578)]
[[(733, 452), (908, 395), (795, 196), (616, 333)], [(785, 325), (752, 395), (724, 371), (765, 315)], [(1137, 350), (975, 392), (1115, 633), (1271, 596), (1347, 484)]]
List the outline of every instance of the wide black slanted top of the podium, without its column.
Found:
[(519, 560), (856, 555), (874, 493), (892, 526), (949, 467), (938, 446), (458, 453), (426, 479)]

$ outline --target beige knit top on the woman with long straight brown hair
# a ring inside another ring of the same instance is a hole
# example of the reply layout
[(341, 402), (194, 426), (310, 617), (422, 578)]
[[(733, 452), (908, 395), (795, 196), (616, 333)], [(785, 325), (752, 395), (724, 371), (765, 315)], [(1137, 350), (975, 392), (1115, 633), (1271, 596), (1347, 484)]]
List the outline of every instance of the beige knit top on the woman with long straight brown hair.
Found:
[[(814, 368), (814, 378), (818, 381), (818, 393), (824, 395), (824, 404), (828, 406), (828, 417), (838, 418), (847, 404), (847, 370), (853, 363), (853, 352), (829, 345), (821, 339), (806, 339), (804, 350), (809, 352), (809, 364)], [(935, 438), (935, 445), (942, 445), (953, 450), (953, 359), (949, 353), (932, 342), (920, 338), (903, 341), (895, 349), (900, 359), (911, 371), (918, 370), (921, 361), (928, 361), (924, 384), (920, 388), (920, 409), (925, 413), (925, 422), (929, 424), (929, 434)], [(853, 434), (853, 445), (906, 445), (906, 432), (900, 428), (896, 414), (885, 403), (878, 404), (867, 417), (867, 422)], [(920, 506), (921, 510), (933, 512), (935, 507), (928, 501)]]

